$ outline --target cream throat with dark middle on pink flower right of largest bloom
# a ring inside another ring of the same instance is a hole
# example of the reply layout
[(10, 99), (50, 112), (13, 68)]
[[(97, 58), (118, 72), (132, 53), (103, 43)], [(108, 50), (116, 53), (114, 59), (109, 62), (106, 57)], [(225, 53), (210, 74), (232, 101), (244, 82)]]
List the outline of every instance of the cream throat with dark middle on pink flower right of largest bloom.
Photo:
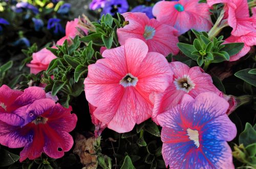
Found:
[(184, 75), (181, 78), (175, 79), (174, 84), (177, 90), (183, 90), (189, 92), (191, 89), (195, 88), (195, 84), (190, 80), (188, 75)]

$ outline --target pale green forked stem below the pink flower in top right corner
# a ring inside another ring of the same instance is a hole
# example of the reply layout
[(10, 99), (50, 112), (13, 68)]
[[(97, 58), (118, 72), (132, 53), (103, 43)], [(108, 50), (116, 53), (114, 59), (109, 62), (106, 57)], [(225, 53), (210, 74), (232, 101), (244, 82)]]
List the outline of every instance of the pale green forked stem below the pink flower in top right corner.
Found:
[(211, 30), (208, 33), (209, 40), (212, 40), (212, 38), (216, 37), (223, 27), (227, 26), (227, 23), (224, 23), (222, 25), (219, 25), (224, 17), (224, 10), (221, 11), (220, 16), (218, 17), (217, 21), (215, 22), (214, 26), (212, 26)]

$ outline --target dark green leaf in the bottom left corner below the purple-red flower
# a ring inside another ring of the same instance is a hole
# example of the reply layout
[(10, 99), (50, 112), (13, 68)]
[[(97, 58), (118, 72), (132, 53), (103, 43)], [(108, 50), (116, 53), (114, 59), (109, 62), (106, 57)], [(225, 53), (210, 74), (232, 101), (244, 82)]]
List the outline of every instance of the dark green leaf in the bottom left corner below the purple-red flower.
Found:
[(0, 160), (1, 167), (9, 166), (19, 160), (18, 155), (12, 154), (9, 151), (4, 150), (4, 149), (0, 150), (0, 154), (1, 154), (1, 160)]

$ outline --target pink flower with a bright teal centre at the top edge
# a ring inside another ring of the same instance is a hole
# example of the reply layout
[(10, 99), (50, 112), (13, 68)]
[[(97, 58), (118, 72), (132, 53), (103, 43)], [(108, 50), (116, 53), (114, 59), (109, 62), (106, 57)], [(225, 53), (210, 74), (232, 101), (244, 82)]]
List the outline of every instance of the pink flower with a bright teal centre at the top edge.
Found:
[(153, 15), (161, 23), (174, 26), (179, 35), (190, 29), (209, 31), (212, 26), (209, 7), (198, 0), (160, 1), (154, 6)]

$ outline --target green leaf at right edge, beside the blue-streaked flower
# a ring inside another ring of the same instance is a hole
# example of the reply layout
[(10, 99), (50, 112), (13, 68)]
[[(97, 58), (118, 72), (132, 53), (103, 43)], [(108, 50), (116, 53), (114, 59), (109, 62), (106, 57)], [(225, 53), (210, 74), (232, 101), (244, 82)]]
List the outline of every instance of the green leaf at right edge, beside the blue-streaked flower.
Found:
[(250, 144), (256, 143), (256, 124), (252, 127), (250, 123), (246, 123), (245, 129), (239, 135), (239, 144), (244, 144), (248, 146)]

